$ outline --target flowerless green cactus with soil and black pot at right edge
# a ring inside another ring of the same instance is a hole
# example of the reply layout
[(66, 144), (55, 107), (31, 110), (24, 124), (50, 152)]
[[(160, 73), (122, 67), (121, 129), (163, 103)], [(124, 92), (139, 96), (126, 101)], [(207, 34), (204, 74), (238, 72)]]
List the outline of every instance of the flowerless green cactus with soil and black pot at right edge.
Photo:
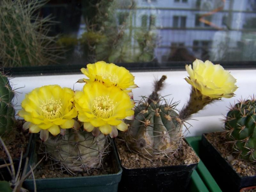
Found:
[(256, 185), (255, 117), (256, 99), (240, 100), (230, 106), (223, 132), (202, 137), (203, 158), (223, 191)]

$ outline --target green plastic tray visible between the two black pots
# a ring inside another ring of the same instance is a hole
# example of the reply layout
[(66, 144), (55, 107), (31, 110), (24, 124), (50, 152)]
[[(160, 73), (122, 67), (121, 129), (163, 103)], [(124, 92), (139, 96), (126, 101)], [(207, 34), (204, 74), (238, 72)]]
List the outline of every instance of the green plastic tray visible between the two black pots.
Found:
[[(194, 152), (199, 156), (199, 144), (201, 136), (187, 137), (188, 144), (194, 149)], [(190, 192), (222, 192), (216, 181), (211, 176), (204, 163), (200, 160), (196, 170), (192, 173), (190, 181)]]

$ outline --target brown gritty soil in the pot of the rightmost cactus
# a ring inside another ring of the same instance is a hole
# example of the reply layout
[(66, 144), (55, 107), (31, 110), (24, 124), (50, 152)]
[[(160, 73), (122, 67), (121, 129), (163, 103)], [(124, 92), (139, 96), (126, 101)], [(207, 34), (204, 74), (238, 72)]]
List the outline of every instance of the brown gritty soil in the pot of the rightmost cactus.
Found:
[(206, 134), (206, 138), (238, 174), (241, 176), (256, 175), (256, 164), (244, 159), (239, 159), (238, 154), (232, 153), (232, 145), (228, 143), (224, 132), (209, 133)]

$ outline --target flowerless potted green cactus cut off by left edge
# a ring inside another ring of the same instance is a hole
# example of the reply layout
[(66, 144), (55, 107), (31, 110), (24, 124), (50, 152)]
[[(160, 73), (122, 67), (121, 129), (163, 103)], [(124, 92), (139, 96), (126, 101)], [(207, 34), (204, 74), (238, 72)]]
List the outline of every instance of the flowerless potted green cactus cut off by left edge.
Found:
[[(15, 92), (12, 90), (9, 78), (1, 72), (0, 95), (0, 137), (11, 151), (10, 156), (13, 159), (15, 171), (17, 171), (19, 161), (21, 162), (21, 168), (23, 168), (25, 159), (29, 155), (32, 135), (29, 136), (27, 132), (23, 132), (21, 121), (15, 119), (15, 109), (12, 102)], [(20, 159), (21, 153), (23, 153), (22, 159)], [(0, 154), (0, 164), (2, 165), (6, 163), (8, 156), (4, 150), (1, 150)], [(4, 177), (2, 179), (11, 179), (7, 168), (2, 168), (0, 172)]]

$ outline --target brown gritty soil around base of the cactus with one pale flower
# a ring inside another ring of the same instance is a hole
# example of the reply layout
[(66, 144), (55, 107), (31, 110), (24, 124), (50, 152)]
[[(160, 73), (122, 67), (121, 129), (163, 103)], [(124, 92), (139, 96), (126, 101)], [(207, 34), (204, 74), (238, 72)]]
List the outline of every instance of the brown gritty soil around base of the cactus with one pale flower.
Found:
[(187, 165), (199, 162), (198, 156), (193, 149), (183, 141), (182, 147), (166, 159), (149, 160), (126, 147), (124, 140), (116, 139), (116, 146), (121, 159), (121, 164), (125, 168), (149, 168), (172, 165)]

